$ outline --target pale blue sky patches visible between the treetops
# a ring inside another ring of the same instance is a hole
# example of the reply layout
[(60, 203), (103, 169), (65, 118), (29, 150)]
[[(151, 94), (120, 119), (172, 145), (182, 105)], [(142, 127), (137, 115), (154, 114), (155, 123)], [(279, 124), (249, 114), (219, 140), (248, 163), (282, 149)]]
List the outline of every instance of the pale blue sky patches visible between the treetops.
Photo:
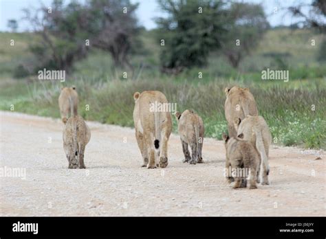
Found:
[[(40, 5), (40, 1), (45, 5), (50, 5), (50, 3), (52, 3), (52, 0), (0, 0), (0, 31), (8, 31), (7, 23), (9, 19), (21, 19), (23, 16), (21, 9), (31, 7), (37, 8)], [(69, 0), (65, 0), (65, 2), (68, 1)], [(140, 3), (137, 10), (140, 25), (146, 27), (147, 30), (155, 28), (154, 18), (163, 15), (156, 0), (131, 0), (131, 2)], [(297, 19), (292, 19), (290, 14), (284, 14), (284, 11), (282, 12), (280, 10), (281, 8), (286, 8), (298, 2), (310, 4), (312, 0), (239, 0), (239, 2), (261, 3), (268, 16), (270, 25), (275, 26), (290, 25), (297, 21)], [(25, 31), (28, 28), (28, 23), (19, 21), (19, 32)]]

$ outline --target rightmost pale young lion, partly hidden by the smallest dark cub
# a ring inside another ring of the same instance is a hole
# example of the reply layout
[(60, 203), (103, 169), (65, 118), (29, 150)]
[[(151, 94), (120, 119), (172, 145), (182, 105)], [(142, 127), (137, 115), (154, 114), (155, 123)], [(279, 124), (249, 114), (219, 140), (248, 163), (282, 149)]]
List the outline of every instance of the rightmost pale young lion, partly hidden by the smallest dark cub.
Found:
[[(237, 135), (243, 135), (243, 139), (250, 141), (256, 147), (261, 159), (259, 168), (259, 181), (262, 185), (268, 185), (268, 151), (272, 143), (270, 128), (262, 116), (247, 115), (243, 120), (236, 118), (234, 121)], [(238, 136), (239, 137), (239, 136)]]

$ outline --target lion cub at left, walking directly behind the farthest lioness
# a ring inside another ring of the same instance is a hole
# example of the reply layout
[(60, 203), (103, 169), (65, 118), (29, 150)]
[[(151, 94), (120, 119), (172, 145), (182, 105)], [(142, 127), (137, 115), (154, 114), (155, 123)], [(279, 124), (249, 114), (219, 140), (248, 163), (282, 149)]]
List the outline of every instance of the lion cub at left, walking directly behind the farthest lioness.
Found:
[(83, 117), (74, 115), (63, 118), (63, 149), (67, 156), (68, 168), (86, 168), (84, 164), (85, 146), (91, 139), (91, 130), (83, 120)]

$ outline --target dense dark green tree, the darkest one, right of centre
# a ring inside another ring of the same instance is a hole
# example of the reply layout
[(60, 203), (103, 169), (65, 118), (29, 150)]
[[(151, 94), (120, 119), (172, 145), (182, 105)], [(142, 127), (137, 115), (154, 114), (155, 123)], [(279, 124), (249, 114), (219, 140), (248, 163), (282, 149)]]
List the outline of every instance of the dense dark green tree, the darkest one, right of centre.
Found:
[(168, 15), (156, 19), (162, 70), (179, 72), (206, 65), (210, 51), (221, 45), (224, 3), (217, 0), (159, 0), (158, 3)]

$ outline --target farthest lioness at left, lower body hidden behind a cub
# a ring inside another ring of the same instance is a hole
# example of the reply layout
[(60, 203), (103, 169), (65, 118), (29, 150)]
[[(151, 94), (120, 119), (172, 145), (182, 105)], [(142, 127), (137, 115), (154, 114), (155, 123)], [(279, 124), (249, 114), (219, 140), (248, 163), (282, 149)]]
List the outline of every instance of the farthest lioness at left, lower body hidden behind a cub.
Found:
[(63, 87), (58, 98), (61, 119), (78, 115), (78, 93), (76, 87)]

